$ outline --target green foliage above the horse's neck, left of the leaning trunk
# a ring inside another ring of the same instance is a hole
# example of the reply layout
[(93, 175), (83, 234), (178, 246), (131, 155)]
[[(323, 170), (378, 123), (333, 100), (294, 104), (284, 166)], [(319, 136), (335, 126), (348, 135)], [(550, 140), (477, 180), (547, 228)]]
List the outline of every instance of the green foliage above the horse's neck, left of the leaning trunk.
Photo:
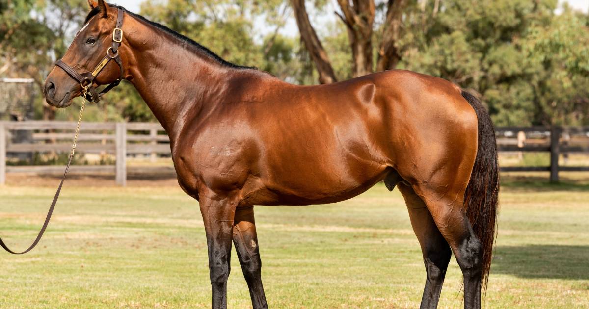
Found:
[[(290, 82), (305, 83), (309, 70), (300, 57), (299, 42), (278, 33), (256, 42), (252, 16), (264, 15), (269, 26), (282, 27), (283, 1), (168, 1), (145, 2), (141, 14), (200, 42), (238, 65), (264, 69)], [(228, 39), (230, 38), (230, 39)]]

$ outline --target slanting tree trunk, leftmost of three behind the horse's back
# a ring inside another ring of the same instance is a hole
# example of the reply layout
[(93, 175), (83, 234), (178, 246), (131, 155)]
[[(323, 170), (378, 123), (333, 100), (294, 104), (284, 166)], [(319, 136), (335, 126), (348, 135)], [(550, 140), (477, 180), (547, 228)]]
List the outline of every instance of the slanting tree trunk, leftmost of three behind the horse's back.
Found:
[(300, 38), (303, 40), (303, 43), (305, 43), (305, 48), (309, 51), (309, 55), (315, 63), (315, 68), (317, 69), (317, 72), (319, 72), (319, 82), (321, 84), (337, 82), (337, 78), (333, 72), (327, 53), (325, 52), (325, 49), (323, 49), (323, 45), (321, 44), (321, 41), (319, 41), (315, 29), (313, 29), (313, 26), (309, 21), (309, 15), (307, 15), (307, 10), (305, 8), (305, 1), (290, 0), (290, 5), (292, 5), (294, 15), (296, 16), (296, 24), (299, 26)]

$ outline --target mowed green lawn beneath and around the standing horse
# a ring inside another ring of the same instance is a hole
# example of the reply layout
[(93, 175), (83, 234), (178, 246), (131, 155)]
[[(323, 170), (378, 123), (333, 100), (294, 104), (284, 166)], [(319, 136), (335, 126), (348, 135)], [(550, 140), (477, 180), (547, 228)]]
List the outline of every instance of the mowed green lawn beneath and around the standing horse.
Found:
[[(545, 185), (505, 178), (487, 308), (589, 308), (589, 175)], [(55, 179), (57, 185), (57, 179)], [(0, 233), (16, 250), (34, 238), (54, 188), (0, 187)], [(272, 308), (416, 308), (425, 269), (397, 190), (352, 200), (256, 207)], [(210, 306), (198, 203), (173, 182), (93, 187), (66, 182), (39, 247), (0, 253), (2, 308)], [(233, 250), (230, 308), (250, 297)], [(452, 258), (441, 308), (462, 305)]]

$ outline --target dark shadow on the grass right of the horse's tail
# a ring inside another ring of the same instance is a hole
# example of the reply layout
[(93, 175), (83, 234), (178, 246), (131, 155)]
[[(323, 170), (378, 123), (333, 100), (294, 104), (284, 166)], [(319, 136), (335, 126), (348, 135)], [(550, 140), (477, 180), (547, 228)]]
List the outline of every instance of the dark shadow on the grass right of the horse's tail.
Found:
[(491, 272), (520, 278), (589, 280), (589, 245), (498, 246)]

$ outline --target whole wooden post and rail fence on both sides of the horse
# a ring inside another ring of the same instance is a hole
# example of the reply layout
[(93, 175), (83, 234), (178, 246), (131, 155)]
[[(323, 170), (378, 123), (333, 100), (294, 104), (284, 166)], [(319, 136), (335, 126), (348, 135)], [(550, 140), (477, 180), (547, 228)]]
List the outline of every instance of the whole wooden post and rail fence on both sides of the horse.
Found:
[[(73, 121), (0, 121), (0, 185), (7, 172), (58, 173), (61, 166), (7, 166), (8, 154), (32, 152), (70, 152), (76, 123)], [(30, 131), (28, 141), (13, 141), (15, 131)], [(501, 171), (549, 171), (550, 181), (558, 181), (559, 171), (589, 171), (589, 166), (561, 166), (561, 154), (589, 154), (589, 127), (499, 127), (496, 128), (500, 152), (549, 152), (548, 166), (501, 167)], [(170, 144), (163, 127), (151, 122), (82, 122), (77, 152), (114, 154), (115, 165), (72, 165), (71, 172), (114, 172), (118, 185), (127, 181), (127, 156), (170, 155)]]

